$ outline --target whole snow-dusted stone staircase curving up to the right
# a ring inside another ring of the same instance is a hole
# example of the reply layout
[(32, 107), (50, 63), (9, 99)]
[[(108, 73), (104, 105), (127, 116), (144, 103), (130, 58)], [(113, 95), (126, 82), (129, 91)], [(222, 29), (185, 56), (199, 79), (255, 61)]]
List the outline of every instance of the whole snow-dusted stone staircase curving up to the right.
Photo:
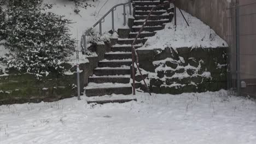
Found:
[[(85, 87), (86, 96), (90, 97), (88, 103), (124, 103), (136, 100), (132, 95), (131, 85), (131, 44), (149, 11), (158, 4), (160, 1), (133, 1), (135, 21), (131, 28), (132, 32), (129, 38), (118, 39), (118, 43), (111, 47), (111, 51), (105, 53), (105, 59), (98, 63), (94, 75), (89, 77), (88, 86)], [(164, 23), (170, 21), (166, 12), (164, 7), (153, 11), (144, 31), (136, 41), (136, 49), (146, 43), (147, 37), (155, 35), (155, 31), (164, 29)]]

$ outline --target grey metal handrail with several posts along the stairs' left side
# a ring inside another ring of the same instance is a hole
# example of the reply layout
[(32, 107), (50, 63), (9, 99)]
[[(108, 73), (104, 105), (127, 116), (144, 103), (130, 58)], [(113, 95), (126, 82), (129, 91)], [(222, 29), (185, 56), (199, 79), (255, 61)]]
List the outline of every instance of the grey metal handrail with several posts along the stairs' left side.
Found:
[(117, 4), (117, 5), (114, 5), (114, 7), (112, 7), (106, 14), (104, 14), (100, 20), (98, 20), (92, 27), (90, 27), (81, 37), (81, 41), (80, 41), (80, 45), (81, 45), (81, 48), (82, 48), (82, 51), (85, 53), (85, 50), (86, 50), (86, 35), (93, 29), (95, 28), (98, 24), (100, 25), (100, 34), (102, 35), (102, 22), (105, 21), (105, 17), (110, 13), (112, 12), (112, 31), (114, 33), (115, 31), (115, 28), (114, 28), (114, 10), (116, 10), (116, 8), (120, 5), (123, 5), (124, 6), (124, 26), (126, 25), (126, 11), (125, 11), (125, 7), (126, 7), (126, 4), (128, 4), (129, 6), (129, 14), (132, 15), (132, 12), (131, 12), (131, 2), (132, 0), (129, 0), (128, 2), (126, 3), (120, 3), (120, 4)]

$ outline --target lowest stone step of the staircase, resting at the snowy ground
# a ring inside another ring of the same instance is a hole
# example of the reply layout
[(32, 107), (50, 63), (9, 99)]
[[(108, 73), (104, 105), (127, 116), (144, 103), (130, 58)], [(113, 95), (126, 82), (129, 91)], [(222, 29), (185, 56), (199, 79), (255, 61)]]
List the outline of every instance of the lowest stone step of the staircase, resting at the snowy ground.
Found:
[(113, 96), (102, 96), (102, 97), (89, 97), (86, 99), (87, 103), (97, 103), (97, 104), (106, 104), (106, 103), (126, 103), (129, 101), (137, 101), (134, 95), (113, 95)]

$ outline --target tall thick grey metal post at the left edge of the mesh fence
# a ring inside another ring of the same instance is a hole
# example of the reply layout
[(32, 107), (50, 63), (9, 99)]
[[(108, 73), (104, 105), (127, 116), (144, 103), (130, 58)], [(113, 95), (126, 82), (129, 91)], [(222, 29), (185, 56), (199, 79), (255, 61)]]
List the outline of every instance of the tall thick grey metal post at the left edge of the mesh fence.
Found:
[(237, 76), (237, 96), (240, 95), (240, 16), (239, 6), (236, 4), (236, 76)]

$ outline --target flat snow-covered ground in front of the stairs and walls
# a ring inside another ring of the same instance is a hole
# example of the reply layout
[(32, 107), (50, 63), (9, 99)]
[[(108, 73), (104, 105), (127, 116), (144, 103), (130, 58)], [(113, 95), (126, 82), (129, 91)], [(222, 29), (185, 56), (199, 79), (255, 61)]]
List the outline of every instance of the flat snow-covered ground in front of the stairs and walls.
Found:
[(0, 106), (0, 143), (254, 144), (256, 104), (226, 91), (138, 93), (124, 104), (54, 103)]

